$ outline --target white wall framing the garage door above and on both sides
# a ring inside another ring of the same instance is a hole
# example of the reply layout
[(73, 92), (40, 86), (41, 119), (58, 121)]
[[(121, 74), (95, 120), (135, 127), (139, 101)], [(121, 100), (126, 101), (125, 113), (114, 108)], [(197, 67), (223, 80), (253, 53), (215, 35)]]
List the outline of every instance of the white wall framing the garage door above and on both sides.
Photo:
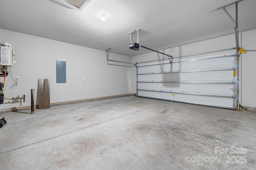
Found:
[[(242, 47), (244, 49), (256, 50), (256, 29), (240, 33), (240, 35), (242, 35)], [(146, 46), (146, 44), (144, 46)], [(217, 37), (214, 39), (208, 39), (205, 41), (200, 41), (187, 45), (182, 45), (179, 47), (171, 47), (169, 49), (161, 50), (160, 52), (172, 55), (173, 57), (179, 57), (207, 51), (229, 49), (233, 47), (236, 47), (234, 34), (223, 37)], [(232, 52), (230, 51), (230, 53)], [(218, 53), (215, 53), (215, 55), (218, 55)], [(139, 63), (144, 61), (152, 61), (166, 58), (167, 56), (161, 55), (156, 52), (150, 52), (143, 55), (132, 57), (132, 63)], [(254, 73), (254, 65), (256, 63), (256, 52), (247, 52), (246, 54), (242, 55), (240, 59), (240, 62), (242, 61), (242, 64), (240, 64), (240, 72), (242, 72), (242, 74), (240, 74), (241, 81), (239, 102), (240, 104), (242, 104), (242, 106), (256, 107), (256, 98), (254, 97), (256, 96), (256, 74)], [(132, 69), (131, 72), (132, 93), (136, 93), (136, 70)]]

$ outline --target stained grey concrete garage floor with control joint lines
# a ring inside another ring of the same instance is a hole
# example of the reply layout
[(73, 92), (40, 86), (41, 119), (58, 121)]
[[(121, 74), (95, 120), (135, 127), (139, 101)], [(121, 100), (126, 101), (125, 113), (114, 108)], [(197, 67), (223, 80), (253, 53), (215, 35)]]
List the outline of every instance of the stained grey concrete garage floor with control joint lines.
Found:
[(256, 113), (126, 96), (1, 113), (0, 169), (256, 169)]

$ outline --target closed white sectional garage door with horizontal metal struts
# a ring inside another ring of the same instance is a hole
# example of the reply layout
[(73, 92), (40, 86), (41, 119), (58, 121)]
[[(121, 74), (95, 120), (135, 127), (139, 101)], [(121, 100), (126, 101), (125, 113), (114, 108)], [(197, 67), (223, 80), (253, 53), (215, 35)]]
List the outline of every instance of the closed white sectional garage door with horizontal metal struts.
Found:
[(236, 50), (137, 64), (137, 96), (236, 109)]

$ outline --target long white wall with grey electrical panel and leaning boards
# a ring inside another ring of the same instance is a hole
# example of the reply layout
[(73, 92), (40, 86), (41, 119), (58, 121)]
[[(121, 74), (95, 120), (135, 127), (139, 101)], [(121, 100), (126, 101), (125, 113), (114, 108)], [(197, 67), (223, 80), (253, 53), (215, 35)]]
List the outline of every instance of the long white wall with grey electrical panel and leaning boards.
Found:
[[(105, 51), (1, 29), (0, 42), (3, 41), (12, 44), (16, 54), (16, 63), (10, 67), (6, 85), (13, 84), (10, 72), (14, 79), (20, 76), (16, 88), (5, 86), (4, 97), (25, 94), (26, 100), (4, 100), (0, 110), (30, 106), (30, 89), (33, 88), (38, 104), (39, 78), (50, 79), (50, 103), (131, 93), (130, 68), (108, 65)], [(130, 57), (113, 53), (110, 59), (131, 62)], [(56, 61), (66, 61), (66, 83), (56, 84)]]

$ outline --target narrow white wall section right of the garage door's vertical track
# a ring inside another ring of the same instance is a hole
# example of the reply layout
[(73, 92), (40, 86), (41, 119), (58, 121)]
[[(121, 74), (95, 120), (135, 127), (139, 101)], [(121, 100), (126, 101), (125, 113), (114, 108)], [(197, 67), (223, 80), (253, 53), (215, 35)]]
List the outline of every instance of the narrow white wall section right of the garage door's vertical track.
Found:
[(256, 29), (241, 33), (241, 46), (247, 50), (240, 57), (241, 105), (256, 107)]

